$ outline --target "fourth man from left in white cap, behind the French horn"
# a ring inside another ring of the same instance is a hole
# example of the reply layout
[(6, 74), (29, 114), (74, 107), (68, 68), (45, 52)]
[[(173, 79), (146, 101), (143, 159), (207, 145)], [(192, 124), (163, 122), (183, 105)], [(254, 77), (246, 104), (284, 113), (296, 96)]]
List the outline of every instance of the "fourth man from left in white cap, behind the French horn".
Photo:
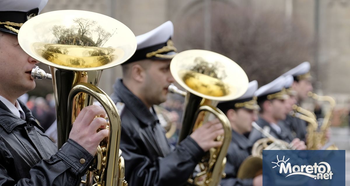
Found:
[[(292, 143), (297, 150), (305, 150), (305, 142), (291, 136), (290, 130), (281, 127), (278, 122), (286, 119), (287, 108), (285, 101), (289, 98), (284, 89), (285, 77), (280, 76), (272, 82), (260, 87), (254, 95), (258, 98), (260, 106), (259, 119), (256, 123), (273, 137)], [(249, 139), (254, 143), (266, 137), (257, 129), (253, 129)]]

